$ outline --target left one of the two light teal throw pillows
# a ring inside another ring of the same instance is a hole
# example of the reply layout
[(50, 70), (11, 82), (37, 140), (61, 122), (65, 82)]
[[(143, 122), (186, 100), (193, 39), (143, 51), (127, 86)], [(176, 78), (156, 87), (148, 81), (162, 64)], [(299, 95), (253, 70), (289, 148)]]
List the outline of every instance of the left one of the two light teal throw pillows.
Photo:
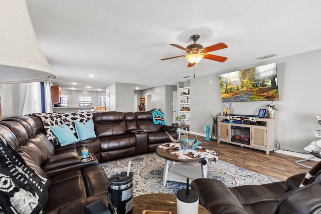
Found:
[(50, 126), (50, 129), (58, 139), (60, 146), (78, 142), (77, 137), (72, 133), (71, 129), (66, 124), (62, 124), (59, 127)]

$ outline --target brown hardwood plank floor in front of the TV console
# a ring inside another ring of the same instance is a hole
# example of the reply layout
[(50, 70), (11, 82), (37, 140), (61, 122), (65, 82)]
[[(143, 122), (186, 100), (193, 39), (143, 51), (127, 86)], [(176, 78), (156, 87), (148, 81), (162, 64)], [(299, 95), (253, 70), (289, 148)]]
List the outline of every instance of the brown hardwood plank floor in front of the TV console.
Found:
[[(219, 160), (222, 160), (251, 171), (273, 177), (278, 180), (286, 180), (294, 174), (307, 172), (309, 169), (294, 163), (295, 160), (302, 158), (294, 157), (277, 152), (265, 154), (265, 151), (247, 147), (240, 147), (229, 143), (217, 143), (217, 141), (204, 141), (204, 137), (197, 136), (201, 142), (213, 143), (214, 147), (221, 152)], [(189, 139), (194, 139), (190, 134)], [(313, 166), (317, 161), (305, 161), (304, 164)]]

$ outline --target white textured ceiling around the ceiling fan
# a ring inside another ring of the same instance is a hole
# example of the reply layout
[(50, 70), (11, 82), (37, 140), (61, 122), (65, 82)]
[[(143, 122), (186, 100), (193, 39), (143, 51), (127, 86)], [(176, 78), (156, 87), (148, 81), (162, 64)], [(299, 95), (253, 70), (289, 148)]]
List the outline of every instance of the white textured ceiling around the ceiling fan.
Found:
[[(105, 90), (115, 82), (144, 89), (186, 81), (194, 67), (187, 68), (184, 57), (160, 59), (186, 54), (169, 44), (186, 47), (194, 34), (204, 47), (228, 46), (210, 53), (227, 61), (203, 59), (196, 76), (321, 49), (318, 0), (27, 0), (27, 6), (57, 73), (53, 83), (65, 89)], [(257, 59), (270, 54), (277, 56)]]

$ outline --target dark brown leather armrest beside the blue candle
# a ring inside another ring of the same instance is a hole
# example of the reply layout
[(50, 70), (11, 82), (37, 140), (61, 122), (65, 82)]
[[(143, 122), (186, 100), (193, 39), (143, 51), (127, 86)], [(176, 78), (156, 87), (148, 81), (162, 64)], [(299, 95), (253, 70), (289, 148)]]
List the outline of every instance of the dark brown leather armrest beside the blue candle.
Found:
[(49, 157), (44, 165), (44, 171), (51, 171), (80, 163), (80, 156), (77, 152), (67, 152)]

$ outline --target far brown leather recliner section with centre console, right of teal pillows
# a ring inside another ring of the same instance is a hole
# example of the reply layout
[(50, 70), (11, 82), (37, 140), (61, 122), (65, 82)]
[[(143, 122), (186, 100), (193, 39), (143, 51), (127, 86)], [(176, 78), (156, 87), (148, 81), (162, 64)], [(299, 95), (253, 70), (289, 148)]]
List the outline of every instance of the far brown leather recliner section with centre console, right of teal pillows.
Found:
[(149, 111), (97, 112), (93, 121), (100, 144), (98, 154), (93, 150), (99, 162), (154, 152), (158, 145), (170, 142), (165, 131), (177, 138), (176, 127), (154, 124)]

